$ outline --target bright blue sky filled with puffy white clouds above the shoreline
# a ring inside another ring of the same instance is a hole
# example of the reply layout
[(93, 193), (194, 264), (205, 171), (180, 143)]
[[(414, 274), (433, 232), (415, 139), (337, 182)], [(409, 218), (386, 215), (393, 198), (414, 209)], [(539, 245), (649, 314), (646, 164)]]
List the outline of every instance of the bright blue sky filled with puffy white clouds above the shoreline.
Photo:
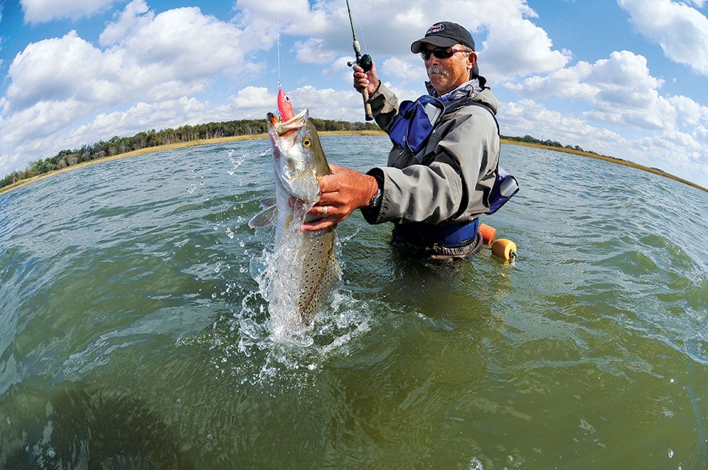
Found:
[[(436, 21), (456, 21), (472, 32), (481, 74), (503, 102), (502, 134), (578, 145), (708, 187), (707, 1), (350, 4), (362, 51), (399, 98), (425, 91), (411, 42)], [(0, 6), (0, 177), (115, 135), (262, 119), (275, 110), (279, 79), (296, 110), (363, 120), (346, 65), (345, 0)]]

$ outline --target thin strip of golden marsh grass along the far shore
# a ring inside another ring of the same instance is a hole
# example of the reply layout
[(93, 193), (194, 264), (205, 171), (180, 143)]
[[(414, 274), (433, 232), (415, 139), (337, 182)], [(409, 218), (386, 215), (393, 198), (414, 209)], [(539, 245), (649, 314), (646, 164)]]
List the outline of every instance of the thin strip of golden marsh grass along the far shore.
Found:
[[(383, 131), (353, 131), (353, 132), (350, 132), (350, 131), (325, 131), (325, 132), (320, 132), (319, 134), (320, 135), (386, 135), (386, 133)], [(197, 145), (222, 144), (222, 143), (226, 143), (226, 142), (236, 142), (236, 141), (240, 141), (240, 140), (256, 140), (256, 139), (266, 139), (266, 138), (268, 138), (268, 134), (263, 133), (263, 134), (251, 134), (251, 135), (237, 135), (234, 137), (218, 137), (215, 139), (198, 139), (198, 140), (193, 140), (191, 142), (181, 142), (179, 144), (160, 145), (157, 147), (145, 147), (144, 149), (128, 151), (123, 154), (106, 156), (106, 157), (103, 157), (102, 159), (84, 161), (80, 164), (67, 166), (66, 168), (62, 168), (61, 170), (50, 171), (49, 173), (44, 173), (39, 176), (34, 176), (33, 178), (19, 180), (14, 184), (5, 186), (4, 188), (0, 188), (0, 194), (7, 193), (8, 191), (11, 191), (16, 188), (21, 188), (22, 186), (28, 185), (30, 183), (34, 183), (35, 181), (49, 178), (50, 176), (58, 175), (59, 173), (64, 173), (66, 171), (72, 171), (77, 168), (84, 168), (85, 166), (89, 166), (89, 165), (100, 164), (100, 163), (103, 163), (104, 161), (124, 159), (129, 156), (136, 156), (136, 155), (142, 155), (142, 154), (152, 154), (156, 151), (181, 149), (184, 147), (195, 147)], [(669, 178), (671, 180), (678, 181), (679, 183), (684, 183), (686, 185), (692, 186), (693, 188), (696, 188), (696, 189), (699, 189), (699, 190), (702, 190), (702, 191), (705, 191), (706, 193), (708, 193), (707, 188), (704, 188), (701, 185), (697, 185), (696, 183), (692, 183), (691, 181), (685, 180), (683, 178), (679, 178), (678, 176), (673, 176), (670, 173), (666, 173), (665, 171), (661, 171), (656, 168), (650, 168), (649, 166), (635, 164), (635, 163), (632, 163), (631, 161), (616, 159), (611, 156), (595, 154), (590, 151), (569, 149), (569, 148), (565, 148), (565, 147), (552, 147), (550, 145), (534, 144), (534, 143), (530, 143), (530, 142), (519, 142), (519, 141), (512, 140), (512, 139), (501, 139), (501, 142), (503, 144), (521, 145), (523, 147), (535, 147), (537, 149), (560, 151), (560, 152), (563, 152), (566, 154), (575, 154), (575, 155), (579, 155), (579, 156), (586, 156), (591, 159), (604, 160), (604, 161), (609, 161), (610, 163), (614, 163), (614, 164), (630, 166), (632, 168), (636, 168), (641, 171), (647, 171), (649, 173), (654, 173), (655, 175), (658, 175), (658, 176), (663, 176), (665, 178)]]

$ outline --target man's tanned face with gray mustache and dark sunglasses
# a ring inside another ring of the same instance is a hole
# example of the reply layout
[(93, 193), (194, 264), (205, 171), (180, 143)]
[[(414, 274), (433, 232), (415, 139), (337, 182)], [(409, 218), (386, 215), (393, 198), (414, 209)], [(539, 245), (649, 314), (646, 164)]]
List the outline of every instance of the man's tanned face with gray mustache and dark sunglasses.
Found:
[[(445, 49), (445, 47), (436, 47), (432, 44), (426, 44), (423, 46), (423, 51), (433, 51), (436, 48)], [(441, 59), (436, 57), (433, 53), (427, 53), (423, 55), (429, 55), (428, 59), (425, 61), (426, 70), (428, 71), (428, 78), (430, 79), (430, 84), (433, 85), (438, 95), (444, 95), (458, 86), (464, 84), (465, 81), (469, 80), (469, 72), (474, 67), (477, 61), (477, 56), (474, 52), (464, 52), (467, 47), (460, 44), (456, 44), (450, 48), (455, 51), (450, 57)], [(450, 51), (448, 51), (449, 53)], [(425, 57), (423, 57), (425, 59)]]

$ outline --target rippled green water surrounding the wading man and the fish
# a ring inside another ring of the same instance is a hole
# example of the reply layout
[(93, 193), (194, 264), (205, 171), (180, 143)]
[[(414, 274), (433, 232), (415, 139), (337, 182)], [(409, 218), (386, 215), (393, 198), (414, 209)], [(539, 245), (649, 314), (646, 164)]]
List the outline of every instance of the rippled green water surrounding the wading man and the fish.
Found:
[[(366, 170), (384, 137), (324, 137)], [(503, 146), (513, 239), (454, 267), (338, 227), (312, 345), (275, 343), (265, 140), (0, 195), (0, 469), (708, 468), (708, 195)]]

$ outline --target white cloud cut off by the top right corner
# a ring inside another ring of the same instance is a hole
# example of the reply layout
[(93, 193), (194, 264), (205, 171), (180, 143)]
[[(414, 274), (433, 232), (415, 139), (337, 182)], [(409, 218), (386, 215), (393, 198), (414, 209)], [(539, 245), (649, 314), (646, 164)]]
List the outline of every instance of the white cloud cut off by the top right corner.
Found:
[[(617, 0), (644, 37), (661, 45), (666, 57), (708, 75), (708, 18), (683, 2)], [(702, 8), (704, 1), (691, 2)]]

